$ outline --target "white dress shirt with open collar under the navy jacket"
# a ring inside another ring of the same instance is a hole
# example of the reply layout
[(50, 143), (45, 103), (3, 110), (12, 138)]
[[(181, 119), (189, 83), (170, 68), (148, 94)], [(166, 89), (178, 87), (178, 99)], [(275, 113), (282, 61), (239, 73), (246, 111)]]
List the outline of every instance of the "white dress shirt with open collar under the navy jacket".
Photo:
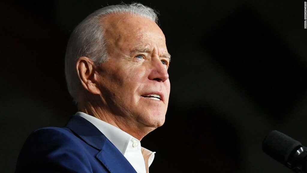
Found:
[(83, 112), (77, 112), (76, 116), (83, 117), (103, 133), (110, 140), (111, 143), (124, 155), (124, 157), (129, 161), (132, 167), (138, 173), (148, 173), (148, 168), (154, 159), (154, 154), (141, 147), (141, 142), (129, 135), (128, 133), (122, 131), (118, 127), (115, 127), (109, 123), (106, 123), (100, 119), (97, 119), (91, 115), (87, 115)]

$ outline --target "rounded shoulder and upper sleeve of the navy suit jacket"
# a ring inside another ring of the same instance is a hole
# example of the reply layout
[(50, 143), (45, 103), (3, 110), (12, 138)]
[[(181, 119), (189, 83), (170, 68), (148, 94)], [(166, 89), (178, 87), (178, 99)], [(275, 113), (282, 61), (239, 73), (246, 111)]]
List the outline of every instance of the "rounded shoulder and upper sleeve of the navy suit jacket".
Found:
[(16, 172), (53, 169), (88, 172), (89, 168), (86, 150), (78, 137), (69, 129), (45, 127), (34, 131), (25, 141), (17, 159)]

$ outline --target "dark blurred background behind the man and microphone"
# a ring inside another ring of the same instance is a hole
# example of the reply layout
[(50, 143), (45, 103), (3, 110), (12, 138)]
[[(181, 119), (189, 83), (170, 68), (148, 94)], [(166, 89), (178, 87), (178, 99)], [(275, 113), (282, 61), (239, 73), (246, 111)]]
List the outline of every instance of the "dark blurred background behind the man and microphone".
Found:
[[(32, 131), (77, 111), (64, 76), (68, 37), (120, 2), (2, 2), (0, 172), (14, 172)], [(137, 2), (160, 12), (172, 55), (166, 122), (142, 140), (157, 152), (150, 172), (291, 172), (261, 143), (276, 129), (307, 145), (304, 2)]]

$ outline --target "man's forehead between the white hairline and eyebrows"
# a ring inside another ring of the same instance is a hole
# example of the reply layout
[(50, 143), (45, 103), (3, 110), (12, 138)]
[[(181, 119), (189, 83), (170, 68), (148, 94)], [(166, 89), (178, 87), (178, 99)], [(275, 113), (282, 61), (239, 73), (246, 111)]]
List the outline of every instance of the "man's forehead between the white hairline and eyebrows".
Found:
[(126, 48), (144, 44), (165, 46), (165, 37), (157, 24), (149, 18), (130, 14), (108, 14), (103, 18), (105, 37), (113, 46)]

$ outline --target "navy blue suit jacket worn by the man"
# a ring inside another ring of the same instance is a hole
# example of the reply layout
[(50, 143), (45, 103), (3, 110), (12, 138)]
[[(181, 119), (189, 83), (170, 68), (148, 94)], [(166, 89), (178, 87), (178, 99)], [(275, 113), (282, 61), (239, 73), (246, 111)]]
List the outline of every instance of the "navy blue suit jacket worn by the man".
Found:
[(26, 140), (16, 173), (136, 173), (122, 153), (90, 122), (72, 116), (66, 127), (46, 127)]

